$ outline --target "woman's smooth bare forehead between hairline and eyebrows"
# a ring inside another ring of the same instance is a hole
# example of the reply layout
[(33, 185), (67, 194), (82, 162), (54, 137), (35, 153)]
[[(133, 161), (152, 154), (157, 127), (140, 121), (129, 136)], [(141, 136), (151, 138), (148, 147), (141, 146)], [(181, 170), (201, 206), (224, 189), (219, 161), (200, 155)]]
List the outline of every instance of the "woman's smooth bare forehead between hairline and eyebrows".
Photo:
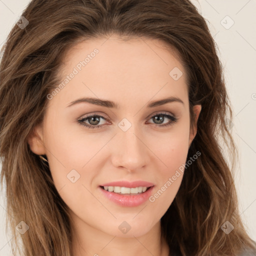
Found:
[(159, 39), (111, 36), (84, 40), (68, 49), (59, 71), (61, 81), (75, 73), (60, 91), (65, 101), (88, 94), (114, 101), (139, 100), (142, 95), (147, 100), (183, 96), (185, 101), (187, 96), (184, 67), (175, 51)]

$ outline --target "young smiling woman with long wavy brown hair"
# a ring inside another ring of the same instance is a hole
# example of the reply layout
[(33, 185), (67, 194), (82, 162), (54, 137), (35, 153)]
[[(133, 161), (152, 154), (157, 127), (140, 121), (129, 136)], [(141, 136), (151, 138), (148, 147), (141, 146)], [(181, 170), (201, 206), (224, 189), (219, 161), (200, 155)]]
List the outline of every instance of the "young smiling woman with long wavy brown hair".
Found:
[(219, 144), (234, 163), (222, 66), (191, 2), (32, 0), (3, 50), (15, 255), (19, 237), (26, 256), (255, 255)]

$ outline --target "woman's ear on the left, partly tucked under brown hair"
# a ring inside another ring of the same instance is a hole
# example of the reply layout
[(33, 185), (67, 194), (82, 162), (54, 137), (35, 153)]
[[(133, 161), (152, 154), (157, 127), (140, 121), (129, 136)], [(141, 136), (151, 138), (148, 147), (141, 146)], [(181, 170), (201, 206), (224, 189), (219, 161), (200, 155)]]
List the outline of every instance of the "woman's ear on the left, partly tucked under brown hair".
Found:
[(36, 125), (27, 137), (27, 142), (30, 146), (30, 149), (35, 154), (45, 154), (46, 150), (43, 143), (42, 136), (42, 123)]

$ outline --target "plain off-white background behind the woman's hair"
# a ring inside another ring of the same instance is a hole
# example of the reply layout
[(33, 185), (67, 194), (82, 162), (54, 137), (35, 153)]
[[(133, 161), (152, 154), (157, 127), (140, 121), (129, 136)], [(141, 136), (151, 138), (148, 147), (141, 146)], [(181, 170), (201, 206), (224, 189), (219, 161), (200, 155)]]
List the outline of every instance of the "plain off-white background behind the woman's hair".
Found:
[[(231, 130), (239, 149), (235, 174), (239, 211), (249, 235), (256, 240), (256, 0), (192, 2), (208, 20), (224, 66), (234, 112)], [(29, 0), (0, 0), (0, 47), (28, 3)], [(6, 214), (5, 197), (0, 194), (0, 256), (12, 255), (12, 237), (5, 232)]]

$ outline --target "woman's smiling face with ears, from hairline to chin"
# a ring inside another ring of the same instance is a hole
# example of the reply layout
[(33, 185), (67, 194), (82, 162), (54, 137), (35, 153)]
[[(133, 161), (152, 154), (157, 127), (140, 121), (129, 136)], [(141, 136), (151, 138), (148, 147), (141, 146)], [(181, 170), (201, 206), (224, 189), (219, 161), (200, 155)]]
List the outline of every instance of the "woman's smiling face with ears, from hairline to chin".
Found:
[[(48, 94), (29, 145), (47, 155), (77, 228), (142, 235), (177, 193), (196, 128), (189, 129), (184, 67), (164, 46), (112, 36), (80, 42), (65, 56), (62, 86)], [(199, 111), (194, 106), (196, 118)]]

